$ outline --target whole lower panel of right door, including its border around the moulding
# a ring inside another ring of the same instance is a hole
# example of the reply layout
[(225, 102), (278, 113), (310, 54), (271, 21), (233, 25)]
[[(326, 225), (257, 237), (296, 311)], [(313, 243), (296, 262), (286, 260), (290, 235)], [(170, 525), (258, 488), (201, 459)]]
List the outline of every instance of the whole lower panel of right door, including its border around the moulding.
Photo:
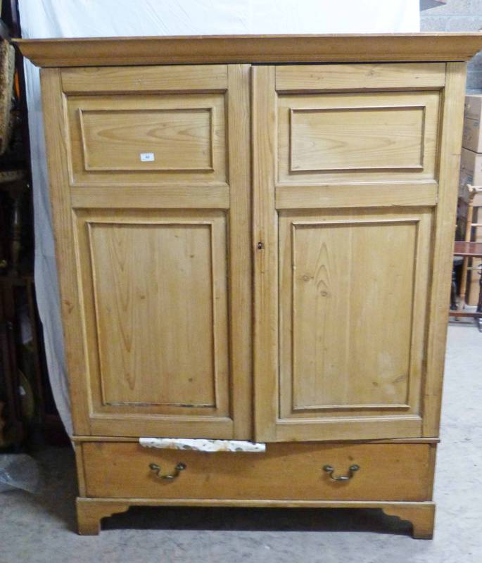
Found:
[(281, 421), (419, 415), (431, 215), (279, 223)]

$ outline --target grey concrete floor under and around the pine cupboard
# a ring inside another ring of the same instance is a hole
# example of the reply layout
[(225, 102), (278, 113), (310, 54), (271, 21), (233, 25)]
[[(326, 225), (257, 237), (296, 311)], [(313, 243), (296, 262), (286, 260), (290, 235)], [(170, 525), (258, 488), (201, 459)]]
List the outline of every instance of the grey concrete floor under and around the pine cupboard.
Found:
[(377, 510), (135, 507), (100, 536), (75, 533), (71, 451), (38, 454), (43, 492), (0, 494), (0, 563), (480, 563), (482, 561), (482, 334), (450, 326), (436, 536)]

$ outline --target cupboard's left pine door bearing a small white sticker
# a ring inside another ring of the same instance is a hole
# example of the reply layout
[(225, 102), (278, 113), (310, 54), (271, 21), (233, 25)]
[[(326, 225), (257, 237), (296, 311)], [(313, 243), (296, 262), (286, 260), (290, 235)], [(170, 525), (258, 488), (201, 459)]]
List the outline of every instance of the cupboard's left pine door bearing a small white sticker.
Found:
[(77, 435), (251, 436), (248, 81), (42, 70)]

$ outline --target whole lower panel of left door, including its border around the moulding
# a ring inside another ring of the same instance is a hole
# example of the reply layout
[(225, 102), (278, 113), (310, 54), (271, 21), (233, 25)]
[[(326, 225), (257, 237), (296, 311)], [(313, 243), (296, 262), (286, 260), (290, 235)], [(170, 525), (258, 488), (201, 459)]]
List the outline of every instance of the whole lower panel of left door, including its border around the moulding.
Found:
[(224, 213), (80, 212), (77, 225), (94, 414), (227, 417)]

